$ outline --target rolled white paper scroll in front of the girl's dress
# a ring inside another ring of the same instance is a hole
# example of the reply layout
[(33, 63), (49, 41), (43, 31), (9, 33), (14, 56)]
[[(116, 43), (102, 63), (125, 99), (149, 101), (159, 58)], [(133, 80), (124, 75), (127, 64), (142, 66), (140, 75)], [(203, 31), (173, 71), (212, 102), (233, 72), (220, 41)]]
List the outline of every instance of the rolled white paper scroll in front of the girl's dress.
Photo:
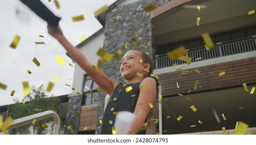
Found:
[(115, 118), (114, 127), (116, 127), (116, 135), (126, 135), (131, 127), (135, 115), (129, 111), (120, 111)]

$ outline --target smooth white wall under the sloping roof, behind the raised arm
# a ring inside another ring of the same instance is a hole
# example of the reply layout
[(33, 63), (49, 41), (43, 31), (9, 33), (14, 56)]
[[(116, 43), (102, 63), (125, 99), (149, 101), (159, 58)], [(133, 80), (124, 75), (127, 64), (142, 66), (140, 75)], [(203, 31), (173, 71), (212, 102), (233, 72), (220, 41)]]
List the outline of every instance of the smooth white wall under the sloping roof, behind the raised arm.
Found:
[[(99, 48), (103, 48), (103, 41), (104, 31), (87, 41), (84, 46), (79, 48), (79, 50), (86, 56), (92, 65), (97, 65), (98, 59), (100, 59), (100, 57), (96, 55), (96, 52), (99, 50)], [(72, 90), (72, 94), (76, 94), (76, 92), (83, 92), (83, 81), (85, 74), (86, 72), (78, 64), (75, 64), (73, 78), (73, 88), (75, 88), (75, 90)]]

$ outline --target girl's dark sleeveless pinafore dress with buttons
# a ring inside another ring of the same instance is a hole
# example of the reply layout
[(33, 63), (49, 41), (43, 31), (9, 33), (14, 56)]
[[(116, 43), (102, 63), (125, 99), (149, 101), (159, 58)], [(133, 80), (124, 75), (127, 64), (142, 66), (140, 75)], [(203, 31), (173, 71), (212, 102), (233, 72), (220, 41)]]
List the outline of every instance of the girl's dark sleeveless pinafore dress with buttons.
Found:
[[(152, 77), (154, 78), (154, 77)], [(156, 78), (156, 86), (158, 89), (158, 81)], [(137, 100), (140, 94), (140, 83), (134, 82), (129, 84), (122, 84), (119, 83), (114, 90), (113, 95), (110, 97), (110, 101), (107, 103), (106, 109), (104, 111), (103, 119), (102, 119), (102, 126), (101, 126), (101, 135), (111, 135), (112, 134), (112, 127), (115, 124), (115, 114), (113, 112), (119, 111), (129, 111), (134, 112)], [(132, 90), (126, 92), (125, 89), (129, 86), (132, 86)], [(112, 121), (112, 124), (110, 124)], [(137, 135), (145, 135), (145, 130), (141, 130), (137, 133)]]

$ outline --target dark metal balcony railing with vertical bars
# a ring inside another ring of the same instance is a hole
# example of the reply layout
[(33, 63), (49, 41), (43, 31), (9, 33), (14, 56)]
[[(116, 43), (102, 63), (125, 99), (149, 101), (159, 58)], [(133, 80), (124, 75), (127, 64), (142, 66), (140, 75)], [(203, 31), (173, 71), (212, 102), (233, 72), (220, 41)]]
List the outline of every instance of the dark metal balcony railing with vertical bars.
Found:
[[(188, 51), (186, 56), (192, 57), (192, 62), (209, 60), (217, 57), (233, 55), (238, 53), (245, 53), (256, 50), (256, 38), (250, 38), (245, 40), (227, 42), (225, 44), (216, 44), (210, 51), (205, 47), (200, 47), (196, 50)], [(201, 57), (201, 59), (199, 59)], [(198, 59), (198, 60), (196, 60)], [(156, 69), (172, 66), (173, 64), (185, 64), (186, 62), (175, 59), (170, 60), (169, 56), (156, 55)]]

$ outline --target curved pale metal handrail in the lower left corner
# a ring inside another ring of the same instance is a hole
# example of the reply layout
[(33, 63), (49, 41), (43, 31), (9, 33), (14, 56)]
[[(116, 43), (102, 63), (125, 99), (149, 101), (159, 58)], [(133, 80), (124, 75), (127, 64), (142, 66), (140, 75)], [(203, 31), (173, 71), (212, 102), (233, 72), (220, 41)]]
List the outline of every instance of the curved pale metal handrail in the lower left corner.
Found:
[(44, 111), (44, 112), (40, 112), (40, 113), (36, 113), (33, 115), (29, 115), (27, 117), (23, 117), (23, 118), (19, 118), (14, 120), (14, 122), (8, 127), (8, 129), (14, 129), (23, 125), (28, 125), (31, 124), (33, 122), (34, 119), (36, 119), (36, 121), (40, 121), (40, 120), (44, 120), (47, 118), (51, 118), (54, 122), (54, 126), (53, 126), (53, 135), (59, 135), (60, 133), (60, 117), (59, 115), (52, 111), (52, 110), (48, 110), (48, 111)]

